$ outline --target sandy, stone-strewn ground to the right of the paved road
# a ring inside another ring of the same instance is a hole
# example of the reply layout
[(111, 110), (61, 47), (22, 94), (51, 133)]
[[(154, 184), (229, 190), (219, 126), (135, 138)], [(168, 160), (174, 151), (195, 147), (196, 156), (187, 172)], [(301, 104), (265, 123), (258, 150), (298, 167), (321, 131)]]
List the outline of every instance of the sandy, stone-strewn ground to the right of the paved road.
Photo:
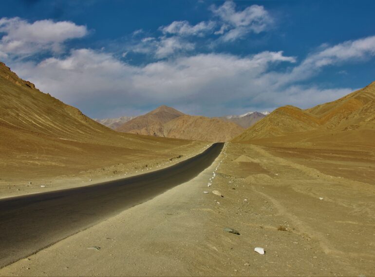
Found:
[(193, 180), (0, 275), (374, 276), (374, 153), (293, 151), (229, 143)]

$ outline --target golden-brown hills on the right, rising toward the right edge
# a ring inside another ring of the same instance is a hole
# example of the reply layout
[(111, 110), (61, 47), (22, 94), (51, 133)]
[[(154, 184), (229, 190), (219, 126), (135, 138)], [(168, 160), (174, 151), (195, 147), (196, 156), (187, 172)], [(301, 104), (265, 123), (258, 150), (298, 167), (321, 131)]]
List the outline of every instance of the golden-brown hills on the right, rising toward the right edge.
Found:
[[(370, 134), (373, 137), (369, 137)], [(375, 82), (336, 101), (309, 109), (280, 107), (233, 141), (271, 141), (272, 138), (275, 141), (373, 141)]]

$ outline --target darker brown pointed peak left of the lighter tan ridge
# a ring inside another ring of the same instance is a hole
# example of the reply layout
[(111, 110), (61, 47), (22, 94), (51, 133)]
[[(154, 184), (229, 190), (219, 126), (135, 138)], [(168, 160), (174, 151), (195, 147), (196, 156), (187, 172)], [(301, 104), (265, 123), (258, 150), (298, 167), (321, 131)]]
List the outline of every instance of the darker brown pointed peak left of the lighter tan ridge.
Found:
[(124, 133), (165, 137), (163, 124), (183, 115), (185, 114), (174, 108), (162, 105), (145, 115), (125, 122), (116, 130)]

